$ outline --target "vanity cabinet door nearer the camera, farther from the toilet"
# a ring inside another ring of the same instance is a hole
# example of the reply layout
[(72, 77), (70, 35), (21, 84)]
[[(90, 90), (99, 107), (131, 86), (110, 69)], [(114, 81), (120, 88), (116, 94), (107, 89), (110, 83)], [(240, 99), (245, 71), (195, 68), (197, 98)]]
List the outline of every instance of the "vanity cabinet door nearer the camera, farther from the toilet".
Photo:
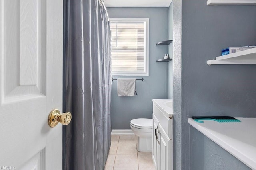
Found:
[(172, 140), (168, 138), (160, 123), (158, 123), (160, 134), (160, 170), (172, 170)]

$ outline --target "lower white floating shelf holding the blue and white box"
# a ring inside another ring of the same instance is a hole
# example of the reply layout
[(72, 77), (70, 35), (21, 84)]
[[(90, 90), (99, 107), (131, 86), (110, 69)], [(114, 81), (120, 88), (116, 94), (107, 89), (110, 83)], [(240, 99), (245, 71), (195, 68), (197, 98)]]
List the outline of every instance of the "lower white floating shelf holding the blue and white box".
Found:
[(207, 60), (207, 64), (256, 64), (256, 48), (222, 55), (215, 60)]

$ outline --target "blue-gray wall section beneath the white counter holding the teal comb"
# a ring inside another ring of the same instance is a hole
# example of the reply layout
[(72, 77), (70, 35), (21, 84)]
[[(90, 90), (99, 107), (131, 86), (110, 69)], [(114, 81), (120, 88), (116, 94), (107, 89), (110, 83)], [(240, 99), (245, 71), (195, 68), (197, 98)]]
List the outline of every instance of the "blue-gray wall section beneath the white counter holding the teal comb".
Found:
[(232, 154), (196, 130), (190, 129), (191, 170), (250, 170)]

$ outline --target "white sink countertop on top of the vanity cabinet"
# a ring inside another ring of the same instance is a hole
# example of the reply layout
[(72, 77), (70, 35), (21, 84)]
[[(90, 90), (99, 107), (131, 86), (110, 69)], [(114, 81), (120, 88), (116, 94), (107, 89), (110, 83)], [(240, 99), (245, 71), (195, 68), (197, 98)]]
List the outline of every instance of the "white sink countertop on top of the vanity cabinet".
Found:
[(153, 99), (153, 103), (156, 104), (167, 117), (172, 118), (172, 99)]

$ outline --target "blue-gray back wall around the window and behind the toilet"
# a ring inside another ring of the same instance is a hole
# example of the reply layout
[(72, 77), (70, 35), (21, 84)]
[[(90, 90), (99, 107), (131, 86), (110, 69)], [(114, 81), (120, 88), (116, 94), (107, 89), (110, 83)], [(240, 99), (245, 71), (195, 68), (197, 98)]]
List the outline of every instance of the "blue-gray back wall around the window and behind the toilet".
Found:
[(130, 129), (130, 120), (152, 118), (152, 99), (167, 98), (168, 64), (156, 63), (168, 53), (168, 46), (156, 43), (168, 39), (168, 8), (107, 8), (110, 18), (149, 18), (149, 76), (113, 76), (144, 78), (136, 80), (138, 96), (117, 96), (116, 80), (112, 82), (111, 128)]

